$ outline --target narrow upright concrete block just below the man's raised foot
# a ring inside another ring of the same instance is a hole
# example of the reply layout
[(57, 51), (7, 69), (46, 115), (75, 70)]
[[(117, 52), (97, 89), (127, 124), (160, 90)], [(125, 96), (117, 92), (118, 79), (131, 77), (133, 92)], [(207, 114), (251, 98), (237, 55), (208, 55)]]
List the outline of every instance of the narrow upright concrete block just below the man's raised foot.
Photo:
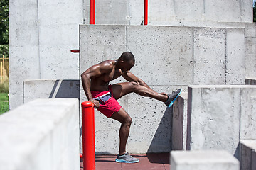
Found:
[(186, 150), (187, 137), (187, 113), (188, 113), (188, 93), (183, 92), (178, 96), (173, 106), (172, 120), (172, 150)]

